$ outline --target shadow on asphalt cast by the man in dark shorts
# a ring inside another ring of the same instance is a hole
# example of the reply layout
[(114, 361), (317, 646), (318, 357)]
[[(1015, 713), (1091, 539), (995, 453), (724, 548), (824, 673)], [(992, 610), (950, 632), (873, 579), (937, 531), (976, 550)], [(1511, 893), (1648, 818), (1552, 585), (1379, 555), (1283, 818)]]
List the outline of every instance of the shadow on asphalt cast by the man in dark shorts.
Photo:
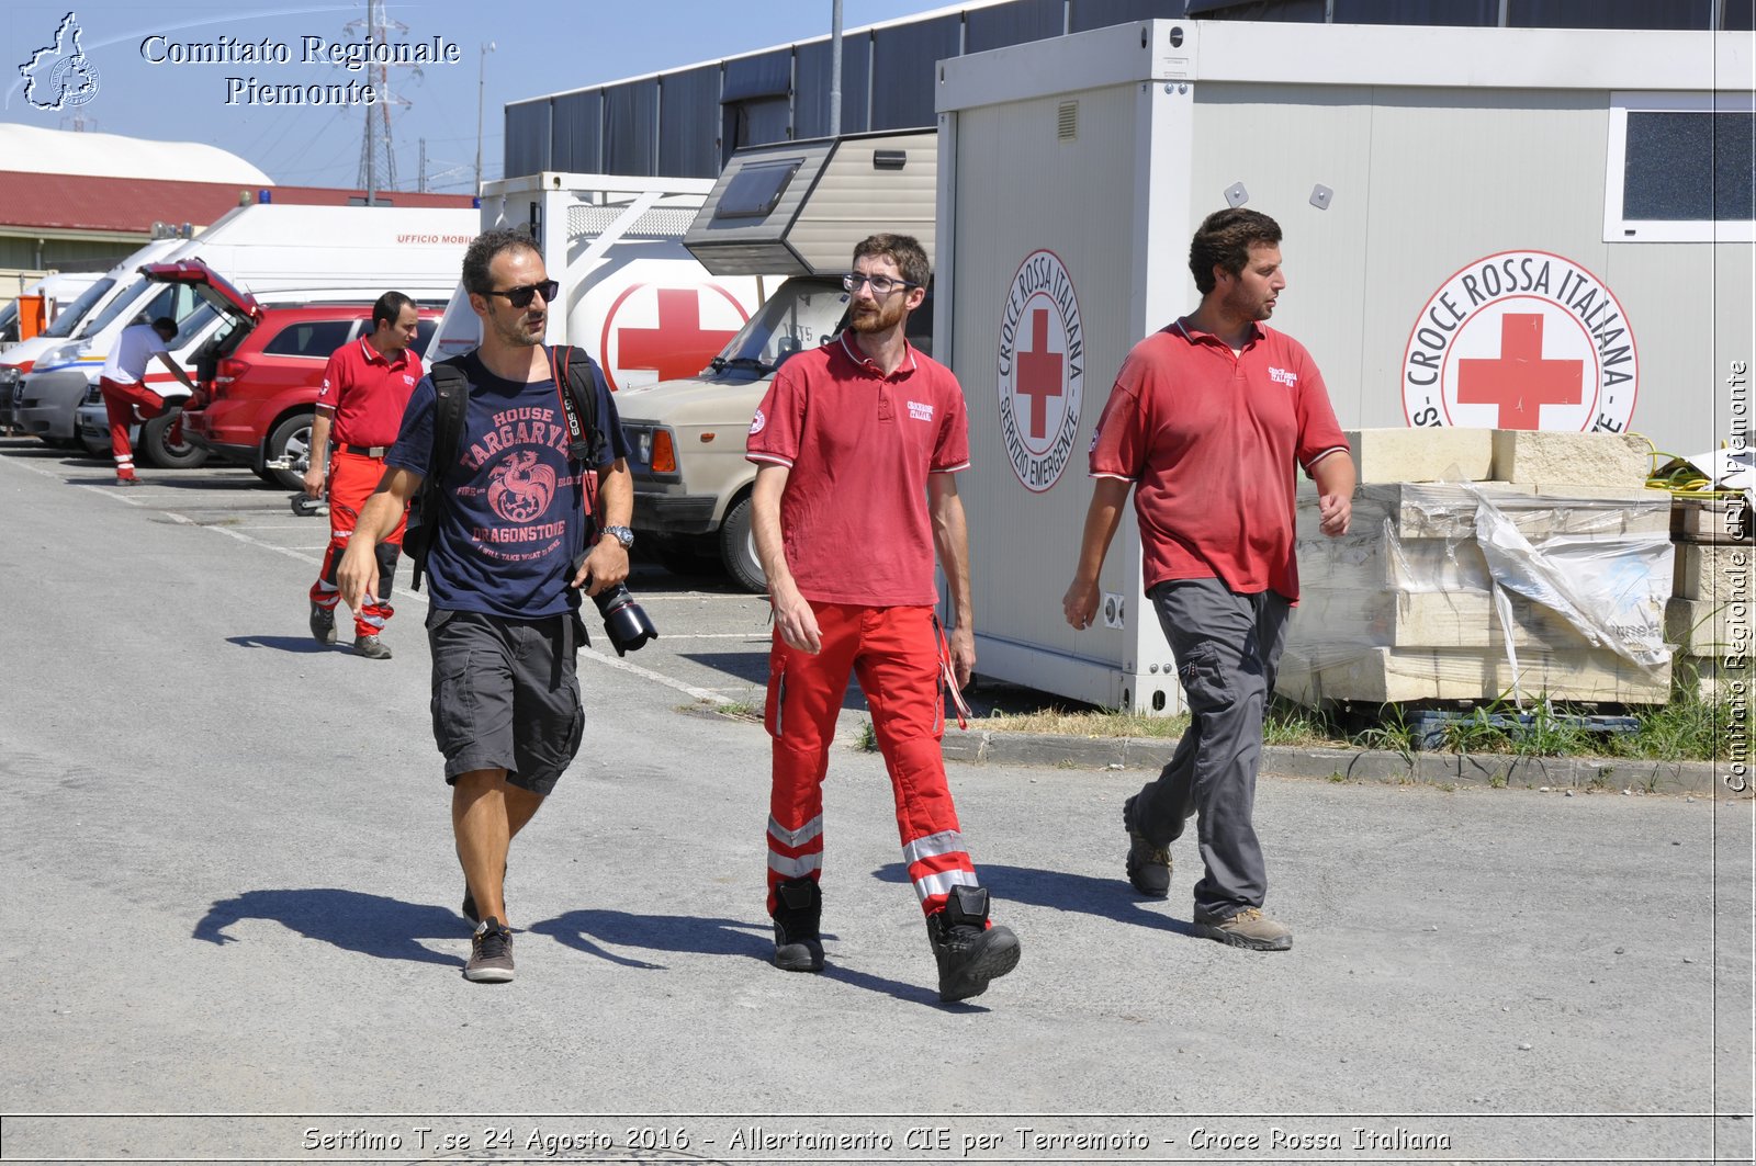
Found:
[(244, 918), (272, 918), (307, 939), (321, 939), (344, 952), (448, 968), (457, 966), (457, 955), (441, 955), (420, 941), (460, 939), (469, 934), (469, 922), (443, 906), (335, 887), (307, 887), (246, 890), (235, 899), (220, 899), (195, 924), (191, 938), (221, 946), (237, 943), (225, 931)]

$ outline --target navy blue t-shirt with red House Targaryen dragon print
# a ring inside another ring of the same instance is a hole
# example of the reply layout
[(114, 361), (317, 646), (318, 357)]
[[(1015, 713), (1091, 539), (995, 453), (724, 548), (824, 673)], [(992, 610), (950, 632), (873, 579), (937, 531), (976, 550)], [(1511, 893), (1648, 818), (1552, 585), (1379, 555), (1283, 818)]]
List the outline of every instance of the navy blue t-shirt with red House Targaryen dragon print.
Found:
[[(515, 620), (571, 611), (579, 606), (579, 592), (567, 587), (572, 560), (590, 530), (587, 467), (567, 457), (567, 414), (555, 381), (506, 381), (474, 351), (458, 363), (469, 379), (469, 407), (458, 457), (435, 467), (444, 499), (427, 555), (432, 604)], [(592, 379), (606, 457), (627, 457), (622, 418), (595, 363)], [(428, 474), (434, 400), (432, 376), (425, 376), (409, 397), (386, 465)]]

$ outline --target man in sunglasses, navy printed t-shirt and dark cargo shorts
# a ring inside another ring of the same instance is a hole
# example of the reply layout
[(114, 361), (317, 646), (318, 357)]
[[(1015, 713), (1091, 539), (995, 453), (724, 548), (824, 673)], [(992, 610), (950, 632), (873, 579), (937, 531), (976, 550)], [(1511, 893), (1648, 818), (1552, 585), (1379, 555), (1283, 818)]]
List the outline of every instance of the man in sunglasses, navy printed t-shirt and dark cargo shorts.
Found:
[[(481, 346), (455, 358), (469, 383), (458, 448), (434, 450), (428, 376), (409, 399), (385, 478), (360, 515), (341, 590), (348, 606), (372, 590), (372, 546), (395, 529), (421, 479), (439, 474), (427, 630), (434, 738), (451, 785), (464, 915), (478, 924), (464, 976), (504, 983), (513, 978), (506, 853), (579, 750), (579, 594), (597, 595), (629, 574), (634, 481), (622, 421), (595, 363), (595, 416), (608, 460), (588, 465), (595, 458), (572, 453), (565, 378), (543, 344), (558, 286), (530, 237), (483, 232), (464, 255), (464, 290), (481, 318)], [(606, 537), (581, 562), (594, 502)]]

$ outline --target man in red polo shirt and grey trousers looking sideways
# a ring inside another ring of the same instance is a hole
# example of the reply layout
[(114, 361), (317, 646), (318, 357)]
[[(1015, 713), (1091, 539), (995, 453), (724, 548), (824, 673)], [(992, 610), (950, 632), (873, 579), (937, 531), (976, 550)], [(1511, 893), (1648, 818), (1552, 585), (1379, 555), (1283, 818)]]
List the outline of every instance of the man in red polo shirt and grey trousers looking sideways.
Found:
[(1127, 878), (1169, 894), (1169, 843), (1199, 815), (1205, 874), (1196, 931), (1259, 952), (1292, 932), (1263, 913), (1268, 873), (1256, 838), (1263, 715), (1287, 615), (1299, 597), (1292, 478), (1315, 483), (1322, 532), (1347, 534), (1354, 458), (1322, 374), (1292, 337), (1263, 327), (1287, 286), (1280, 227), (1259, 211), (1210, 214), (1189, 246), (1201, 306), (1122, 362), (1098, 418), (1098, 479), (1062, 611), (1098, 613), (1098, 572), (1134, 488), (1147, 595), (1177, 657), (1191, 725), (1171, 762), (1122, 806)]

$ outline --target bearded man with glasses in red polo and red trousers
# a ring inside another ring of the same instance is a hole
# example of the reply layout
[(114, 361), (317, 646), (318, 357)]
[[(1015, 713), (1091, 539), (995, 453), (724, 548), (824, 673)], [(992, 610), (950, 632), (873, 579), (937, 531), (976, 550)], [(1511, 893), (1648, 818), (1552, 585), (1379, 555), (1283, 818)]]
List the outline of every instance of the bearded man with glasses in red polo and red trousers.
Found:
[[(954, 474), (969, 465), (964, 395), (904, 339), (927, 286), (908, 235), (853, 249), (852, 328), (792, 356), (750, 423), (753, 534), (774, 608), (767, 731), (773, 785), (767, 910), (774, 962), (820, 971), (824, 794), (848, 671), (860, 678), (896, 790), (903, 862), (927, 915), (946, 1001), (985, 992), (1018, 964), (989, 925), (989, 892), (964, 850), (945, 783), (941, 676), (969, 683), (975, 623), (969, 536)], [(932, 555), (957, 622), (945, 646)]]

